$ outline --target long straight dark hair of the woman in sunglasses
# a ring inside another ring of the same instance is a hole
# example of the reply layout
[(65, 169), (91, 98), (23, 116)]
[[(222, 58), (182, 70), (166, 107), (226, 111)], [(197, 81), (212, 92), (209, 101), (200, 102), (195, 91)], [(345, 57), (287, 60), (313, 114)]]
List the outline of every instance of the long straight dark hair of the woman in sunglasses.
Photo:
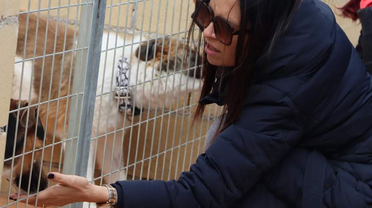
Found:
[[(228, 77), (228, 84), (224, 89), (224, 118), (214, 137), (240, 117), (243, 102), (247, 99), (247, 92), (253, 84), (255, 70), (263, 69), (270, 60), (270, 55), (278, 39), (285, 32), (292, 16), (301, 0), (237, 0), (240, 3), (240, 33), (235, 54), (234, 67), (217, 67), (208, 63), (205, 52), (202, 52), (203, 87), (200, 99), (208, 95), (216, 80)], [(188, 35), (188, 43), (193, 38), (195, 23), (192, 22)], [(249, 34), (243, 28), (250, 29)], [(199, 31), (199, 36), (202, 32)], [(248, 38), (247, 38), (247, 35)], [(199, 38), (199, 46), (201, 45)], [(203, 47), (199, 47), (204, 51)], [(220, 85), (221, 86), (221, 85)], [(200, 121), (205, 105), (198, 103), (194, 114), (194, 121)], [(225, 119), (225, 122), (222, 122)], [(196, 122), (194, 122), (196, 123)]]

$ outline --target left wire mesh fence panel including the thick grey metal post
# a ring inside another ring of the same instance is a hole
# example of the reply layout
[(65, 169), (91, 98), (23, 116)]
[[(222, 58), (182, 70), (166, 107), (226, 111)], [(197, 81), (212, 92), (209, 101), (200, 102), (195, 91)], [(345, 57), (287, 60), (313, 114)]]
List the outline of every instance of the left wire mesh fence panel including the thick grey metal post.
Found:
[(37, 197), (48, 186), (47, 172), (86, 176), (106, 5), (105, 0), (20, 3), (12, 101), (3, 127), (3, 176), (9, 183), (1, 185), (0, 207), (25, 206), (19, 201), (28, 197), (11, 202), (9, 196)]

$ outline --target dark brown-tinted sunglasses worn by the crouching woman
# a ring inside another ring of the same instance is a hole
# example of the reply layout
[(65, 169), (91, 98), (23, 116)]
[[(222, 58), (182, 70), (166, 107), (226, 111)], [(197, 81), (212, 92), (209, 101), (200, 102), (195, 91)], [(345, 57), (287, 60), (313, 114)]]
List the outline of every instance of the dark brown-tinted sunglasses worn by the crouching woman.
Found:
[[(204, 29), (213, 22), (213, 28), (217, 39), (224, 45), (231, 45), (232, 36), (238, 35), (239, 31), (235, 30), (227, 20), (219, 16), (215, 17), (211, 8), (204, 1), (196, 0), (195, 3), (196, 9), (195, 12), (192, 13), (191, 18), (201, 31), (204, 31)], [(249, 29), (246, 31), (249, 32)]]

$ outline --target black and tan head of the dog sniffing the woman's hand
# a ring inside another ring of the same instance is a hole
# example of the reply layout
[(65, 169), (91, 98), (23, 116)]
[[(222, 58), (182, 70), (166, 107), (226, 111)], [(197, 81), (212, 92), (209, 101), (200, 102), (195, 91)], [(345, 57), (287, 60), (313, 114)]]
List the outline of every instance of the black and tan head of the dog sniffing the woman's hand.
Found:
[[(11, 100), (10, 111), (18, 108), (27, 107), (27, 101)], [(29, 111), (29, 113), (28, 113)], [(44, 190), (48, 186), (47, 175), (42, 167), (41, 151), (35, 151), (32, 158), (33, 149), (42, 147), (44, 140), (44, 128), (40, 119), (37, 117), (38, 108), (30, 107), (19, 111), (17, 124), (17, 111), (9, 113), (7, 126), (1, 127), (0, 131), (6, 131), (5, 159), (13, 157), (15, 150), (15, 159), (12, 168), (12, 160), (4, 163), (3, 176), (18, 190), (19, 194), (27, 193), (28, 187), (30, 193), (36, 193)], [(28, 115), (29, 114), (29, 115)], [(28, 118), (28, 119), (27, 119)], [(36, 139), (35, 139), (36, 135)], [(24, 158), (22, 161), (22, 154)], [(17, 157), (19, 156), (19, 157)], [(40, 176), (40, 185), (38, 185)]]

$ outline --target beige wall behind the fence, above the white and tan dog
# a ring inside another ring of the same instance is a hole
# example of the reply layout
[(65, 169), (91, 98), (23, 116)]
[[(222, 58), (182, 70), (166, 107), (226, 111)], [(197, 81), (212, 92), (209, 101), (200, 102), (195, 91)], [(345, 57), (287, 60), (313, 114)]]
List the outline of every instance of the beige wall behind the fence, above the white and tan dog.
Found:
[[(71, 0), (68, 15), (68, 19), (70, 20), (76, 20), (77, 2), (77, 0)], [(39, 7), (39, 0), (20, 0), (20, 6), (22, 10), (28, 10), (28, 7), (30, 7), (30, 10), (37, 10)], [(55, 8), (58, 6), (61, 7), (60, 17), (66, 19), (68, 0), (61, 0), (60, 5), (58, 5), (58, 1), (52, 0), (50, 2), (50, 7), (52, 8), (50, 11), (51, 16), (57, 16), (57, 9)], [(106, 25), (111, 25), (113, 27), (118, 25), (119, 27), (126, 26), (130, 28), (131, 23), (134, 21), (132, 18), (132, 10), (137, 7), (135, 28), (138, 30), (143, 28), (144, 31), (151, 32), (158, 31), (163, 34), (185, 31), (186, 24), (187, 26), (189, 25), (191, 12), (194, 9), (192, 0), (184, 0), (183, 2), (181, 0), (154, 0), (153, 5), (151, 0), (147, 0), (138, 2), (137, 6), (135, 3), (132, 3), (132, 0), (108, 0), (107, 7)], [(49, 0), (40, 0), (40, 8), (49, 8)], [(189, 13), (187, 13), (187, 10), (189, 10)], [(46, 15), (48, 12), (43, 11), (41, 13)], [(79, 17), (80, 15), (78, 15), (78, 18)]]

